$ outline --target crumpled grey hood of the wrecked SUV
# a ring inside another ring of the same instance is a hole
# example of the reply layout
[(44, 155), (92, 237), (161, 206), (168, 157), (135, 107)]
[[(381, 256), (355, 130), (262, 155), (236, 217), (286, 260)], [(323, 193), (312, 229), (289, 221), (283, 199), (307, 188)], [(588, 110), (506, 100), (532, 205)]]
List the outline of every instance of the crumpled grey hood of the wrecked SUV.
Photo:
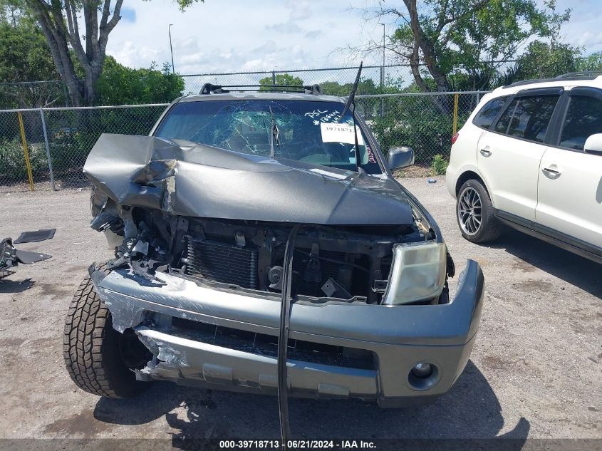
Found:
[(101, 135), (83, 172), (118, 204), (171, 214), (306, 224), (411, 224), (393, 180), (133, 135)]

